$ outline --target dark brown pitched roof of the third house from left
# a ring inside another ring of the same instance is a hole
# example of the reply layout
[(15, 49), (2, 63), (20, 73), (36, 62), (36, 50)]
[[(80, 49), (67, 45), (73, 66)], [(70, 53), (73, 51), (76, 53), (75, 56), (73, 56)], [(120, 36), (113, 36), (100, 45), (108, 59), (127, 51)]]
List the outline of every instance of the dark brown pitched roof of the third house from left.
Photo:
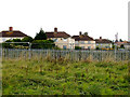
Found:
[(89, 36), (73, 36), (73, 39), (75, 39), (75, 41), (93, 41), (93, 38), (89, 37)]

